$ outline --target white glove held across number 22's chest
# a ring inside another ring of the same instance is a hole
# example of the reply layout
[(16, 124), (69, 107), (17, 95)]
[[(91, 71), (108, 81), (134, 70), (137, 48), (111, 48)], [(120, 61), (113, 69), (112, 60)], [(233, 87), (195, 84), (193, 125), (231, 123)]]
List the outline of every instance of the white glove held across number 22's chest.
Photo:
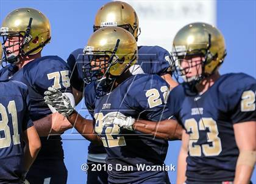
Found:
[(104, 115), (102, 119), (103, 126), (110, 126), (110, 124), (117, 124), (119, 127), (123, 127), (125, 129), (133, 130), (132, 125), (135, 122), (135, 119), (132, 117), (126, 117), (126, 115), (121, 112), (110, 112)]

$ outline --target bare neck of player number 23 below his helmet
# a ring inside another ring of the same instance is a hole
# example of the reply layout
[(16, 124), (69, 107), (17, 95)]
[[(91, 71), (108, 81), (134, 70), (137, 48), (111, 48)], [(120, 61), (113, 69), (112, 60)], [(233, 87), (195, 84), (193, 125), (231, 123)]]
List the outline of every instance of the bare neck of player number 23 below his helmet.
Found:
[(210, 75), (207, 78), (204, 78), (201, 83), (196, 85), (196, 89), (199, 92), (199, 94), (204, 94), (221, 75), (219, 75), (219, 72), (213, 73), (213, 75)]

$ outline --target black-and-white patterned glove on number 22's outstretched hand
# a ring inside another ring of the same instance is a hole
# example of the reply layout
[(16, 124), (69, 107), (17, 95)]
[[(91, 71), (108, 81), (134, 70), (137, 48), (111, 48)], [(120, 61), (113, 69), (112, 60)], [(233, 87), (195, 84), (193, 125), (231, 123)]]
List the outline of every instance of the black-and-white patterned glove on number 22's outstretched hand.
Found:
[(63, 116), (69, 117), (74, 111), (69, 98), (66, 97), (65, 94), (62, 94), (60, 90), (55, 89), (54, 87), (48, 87), (48, 90), (44, 92), (44, 95), (44, 103), (54, 107), (54, 109)]

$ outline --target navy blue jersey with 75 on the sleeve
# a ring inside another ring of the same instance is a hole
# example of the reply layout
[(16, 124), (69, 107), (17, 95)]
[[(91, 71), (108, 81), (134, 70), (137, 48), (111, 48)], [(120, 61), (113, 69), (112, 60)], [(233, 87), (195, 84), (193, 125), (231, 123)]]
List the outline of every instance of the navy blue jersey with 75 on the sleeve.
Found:
[[(14, 69), (13, 69), (14, 68)], [(48, 87), (55, 87), (62, 92), (70, 92), (68, 64), (59, 56), (43, 56), (27, 63), (20, 70), (10, 65), (2, 69), (0, 79), (12, 77), (13, 80), (21, 81), (29, 88), (31, 101), (30, 117), (33, 121), (51, 114), (48, 105), (44, 103), (44, 91)], [(13, 72), (12, 72), (13, 71)], [(7, 74), (6, 74), (7, 73)], [(60, 135), (40, 137), (41, 150), (37, 160), (40, 159), (63, 159), (63, 149)]]

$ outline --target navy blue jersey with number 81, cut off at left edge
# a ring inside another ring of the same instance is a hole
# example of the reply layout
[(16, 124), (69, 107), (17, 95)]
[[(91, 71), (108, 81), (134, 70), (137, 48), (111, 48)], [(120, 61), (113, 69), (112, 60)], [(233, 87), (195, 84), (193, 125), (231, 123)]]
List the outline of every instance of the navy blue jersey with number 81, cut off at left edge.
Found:
[(23, 132), (33, 126), (27, 86), (0, 81), (0, 183), (21, 183), (24, 175)]

